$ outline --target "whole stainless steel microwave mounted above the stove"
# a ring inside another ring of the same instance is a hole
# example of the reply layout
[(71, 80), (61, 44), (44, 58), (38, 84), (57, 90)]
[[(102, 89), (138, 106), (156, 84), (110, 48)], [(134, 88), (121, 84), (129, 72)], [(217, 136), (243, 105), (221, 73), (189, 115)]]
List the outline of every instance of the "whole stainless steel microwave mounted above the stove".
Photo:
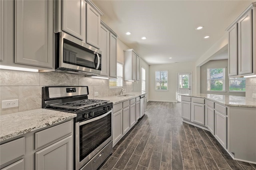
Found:
[(55, 34), (55, 71), (98, 75), (102, 52), (77, 38), (60, 32)]

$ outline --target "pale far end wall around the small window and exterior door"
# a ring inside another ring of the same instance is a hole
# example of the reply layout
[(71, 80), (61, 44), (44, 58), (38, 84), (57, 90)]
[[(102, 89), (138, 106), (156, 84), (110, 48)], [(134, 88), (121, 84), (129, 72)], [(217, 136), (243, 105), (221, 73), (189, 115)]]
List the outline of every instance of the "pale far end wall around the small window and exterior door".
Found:
[[(168, 91), (155, 90), (155, 71), (168, 70)], [(192, 72), (192, 93), (196, 91), (195, 62), (171, 63), (149, 66), (149, 100), (176, 102), (177, 73)]]

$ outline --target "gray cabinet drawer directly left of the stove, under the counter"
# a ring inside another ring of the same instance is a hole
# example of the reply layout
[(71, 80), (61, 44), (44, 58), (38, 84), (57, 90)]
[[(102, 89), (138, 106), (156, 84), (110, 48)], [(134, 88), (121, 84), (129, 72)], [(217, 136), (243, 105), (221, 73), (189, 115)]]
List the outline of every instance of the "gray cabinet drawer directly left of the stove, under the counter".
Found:
[(36, 132), (35, 133), (35, 149), (41, 146), (44, 146), (71, 132), (72, 132), (72, 121), (68, 121), (51, 128), (47, 128), (40, 132)]

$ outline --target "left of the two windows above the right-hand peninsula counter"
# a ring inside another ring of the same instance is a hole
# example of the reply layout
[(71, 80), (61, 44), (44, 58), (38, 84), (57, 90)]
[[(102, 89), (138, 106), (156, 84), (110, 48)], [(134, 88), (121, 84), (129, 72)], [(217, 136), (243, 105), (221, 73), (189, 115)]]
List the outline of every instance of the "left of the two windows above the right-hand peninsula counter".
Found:
[(207, 69), (207, 90), (225, 91), (225, 68)]

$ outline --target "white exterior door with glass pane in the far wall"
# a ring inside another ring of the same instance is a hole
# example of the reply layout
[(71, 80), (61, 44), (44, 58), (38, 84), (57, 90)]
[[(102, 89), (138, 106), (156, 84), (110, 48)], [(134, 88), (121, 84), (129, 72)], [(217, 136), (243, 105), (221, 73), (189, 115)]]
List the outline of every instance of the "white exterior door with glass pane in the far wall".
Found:
[(181, 102), (180, 94), (191, 95), (192, 73), (177, 73), (177, 101)]

